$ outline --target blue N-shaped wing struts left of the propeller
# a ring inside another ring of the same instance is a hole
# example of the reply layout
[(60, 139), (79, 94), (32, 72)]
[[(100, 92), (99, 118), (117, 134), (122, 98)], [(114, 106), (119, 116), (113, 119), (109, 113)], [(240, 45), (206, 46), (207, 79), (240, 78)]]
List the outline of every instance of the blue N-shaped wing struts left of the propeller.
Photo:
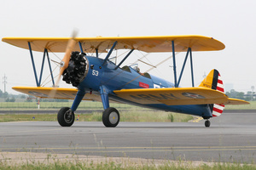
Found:
[(30, 52), (30, 56), (31, 56), (31, 60), (32, 60), (32, 67), (33, 67), (33, 71), (34, 71), (37, 87), (41, 86), (41, 80), (42, 80), (43, 71), (44, 71), (45, 55), (47, 55), (47, 59), (48, 59), (48, 65), (49, 65), (49, 72), (50, 72), (50, 76), (51, 76), (51, 81), (53, 83), (53, 86), (55, 86), (55, 81), (54, 81), (54, 77), (53, 77), (53, 73), (52, 73), (52, 69), (51, 69), (51, 65), (50, 65), (50, 61), (49, 61), (49, 53), (48, 53), (47, 48), (44, 48), (44, 56), (43, 56), (43, 60), (42, 60), (39, 81), (38, 81), (38, 74), (37, 74), (37, 70), (36, 70), (36, 65), (35, 65), (35, 62), (34, 62), (33, 54), (32, 54), (31, 42), (28, 42), (28, 48), (29, 48), (29, 52)]

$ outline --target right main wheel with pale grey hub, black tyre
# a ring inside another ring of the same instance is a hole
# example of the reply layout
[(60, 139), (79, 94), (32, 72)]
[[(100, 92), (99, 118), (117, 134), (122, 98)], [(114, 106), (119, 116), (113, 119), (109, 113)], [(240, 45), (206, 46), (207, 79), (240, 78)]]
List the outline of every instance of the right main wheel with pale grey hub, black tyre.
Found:
[(105, 127), (116, 127), (119, 124), (119, 111), (113, 107), (109, 107), (102, 114), (102, 122)]

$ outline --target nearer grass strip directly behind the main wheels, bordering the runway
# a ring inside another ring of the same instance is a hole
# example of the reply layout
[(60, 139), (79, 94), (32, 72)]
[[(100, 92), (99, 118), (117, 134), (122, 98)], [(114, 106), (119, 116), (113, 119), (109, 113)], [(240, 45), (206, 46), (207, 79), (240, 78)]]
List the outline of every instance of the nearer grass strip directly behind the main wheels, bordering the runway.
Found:
[[(102, 112), (92, 114), (76, 114), (79, 122), (102, 122)], [(193, 116), (165, 111), (122, 111), (120, 122), (188, 122)], [(0, 122), (19, 121), (57, 121), (57, 114), (4, 114)]]

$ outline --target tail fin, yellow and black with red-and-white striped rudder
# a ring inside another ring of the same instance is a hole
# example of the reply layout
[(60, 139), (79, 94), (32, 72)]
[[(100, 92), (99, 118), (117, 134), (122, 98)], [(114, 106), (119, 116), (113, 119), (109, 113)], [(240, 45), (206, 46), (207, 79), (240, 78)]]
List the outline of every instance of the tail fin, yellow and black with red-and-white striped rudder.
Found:
[[(212, 88), (213, 90), (218, 90), (224, 93), (224, 85), (222, 79), (217, 70), (213, 69), (208, 76), (201, 82), (199, 87), (202, 88)], [(212, 111), (212, 116), (220, 116), (224, 111), (224, 105), (211, 104), (209, 105)]]

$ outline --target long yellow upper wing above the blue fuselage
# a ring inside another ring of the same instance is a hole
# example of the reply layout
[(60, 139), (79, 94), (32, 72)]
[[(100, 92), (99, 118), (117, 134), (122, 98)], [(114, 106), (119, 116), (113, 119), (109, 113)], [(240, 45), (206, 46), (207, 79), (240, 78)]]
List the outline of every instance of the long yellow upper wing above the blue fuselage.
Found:
[[(11, 45), (28, 49), (28, 42), (31, 42), (32, 50), (44, 52), (47, 48), (51, 52), (65, 52), (69, 37), (3, 37), (2, 41)], [(183, 52), (187, 48), (192, 51), (212, 51), (221, 50), (225, 46), (212, 37), (203, 36), (158, 36), (158, 37), (77, 37), (77, 44), (74, 48), (80, 51), (81, 42), (85, 53), (95, 53), (96, 48), (99, 53), (107, 52), (113, 42), (117, 41), (116, 49), (137, 49), (147, 53), (172, 52), (172, 41), (174, 41), (175, 51)]]

